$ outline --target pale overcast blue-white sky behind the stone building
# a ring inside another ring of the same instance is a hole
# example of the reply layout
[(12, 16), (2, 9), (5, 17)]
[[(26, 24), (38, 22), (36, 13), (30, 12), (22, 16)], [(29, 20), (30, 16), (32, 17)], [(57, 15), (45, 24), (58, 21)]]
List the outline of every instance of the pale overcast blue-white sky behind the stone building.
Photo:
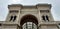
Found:
[(0, 0), (0, 21), (5, 21), (8, 14), (8, 5), (36, 5), (38, 3), (52, 4), (51, 13), (55, 21), (60, 21), (60, 0)]

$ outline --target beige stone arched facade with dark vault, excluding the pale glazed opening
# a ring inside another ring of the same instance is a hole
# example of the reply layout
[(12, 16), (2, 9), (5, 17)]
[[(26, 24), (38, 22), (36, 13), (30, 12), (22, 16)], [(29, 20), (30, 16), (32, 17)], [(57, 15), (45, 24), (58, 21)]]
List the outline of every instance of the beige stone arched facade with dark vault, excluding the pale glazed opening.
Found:
[(37, 24), (37, 29), (60, 29), (60, 21), (54, 21), (51, 7), (51, 4), (8, 5), (9, 13), (6, 21), (0, 21), (0, 29), (23, 29), (25, 22)]

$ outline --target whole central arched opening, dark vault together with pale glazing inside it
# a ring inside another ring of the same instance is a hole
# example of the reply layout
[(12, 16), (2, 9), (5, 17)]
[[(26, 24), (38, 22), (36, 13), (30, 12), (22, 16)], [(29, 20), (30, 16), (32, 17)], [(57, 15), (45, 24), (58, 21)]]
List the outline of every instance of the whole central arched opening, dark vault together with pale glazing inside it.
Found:
[(22, 29), (37, 29), (38, 21), (33, 15), (25, 15), (21, 18), (20, 25)]

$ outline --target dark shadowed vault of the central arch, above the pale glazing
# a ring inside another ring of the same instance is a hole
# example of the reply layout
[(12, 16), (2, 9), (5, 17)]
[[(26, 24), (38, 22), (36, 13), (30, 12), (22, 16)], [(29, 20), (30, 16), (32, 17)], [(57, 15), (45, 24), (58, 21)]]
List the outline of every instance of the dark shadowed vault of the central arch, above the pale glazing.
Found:
[(23, 25), (26, 22), (33, 22), (36, 25), (38, 24), (37, 18), (34, 15), (25, 15), (21, 18), (20, 25)]

